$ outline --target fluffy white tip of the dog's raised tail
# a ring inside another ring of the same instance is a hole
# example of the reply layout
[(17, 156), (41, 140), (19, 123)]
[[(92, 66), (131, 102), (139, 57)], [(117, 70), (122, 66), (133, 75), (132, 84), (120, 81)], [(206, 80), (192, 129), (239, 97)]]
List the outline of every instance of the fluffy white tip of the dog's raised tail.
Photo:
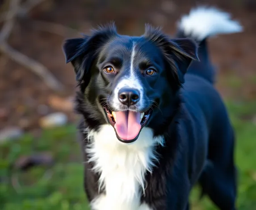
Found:
[(207, 7), (192, 9), (188, 15), (181, 18), (178, 29), (183, 31), (185, 36), (199, 41), (208, 36), (243, 31), (239, 22), (231, 20), (229, 13)]

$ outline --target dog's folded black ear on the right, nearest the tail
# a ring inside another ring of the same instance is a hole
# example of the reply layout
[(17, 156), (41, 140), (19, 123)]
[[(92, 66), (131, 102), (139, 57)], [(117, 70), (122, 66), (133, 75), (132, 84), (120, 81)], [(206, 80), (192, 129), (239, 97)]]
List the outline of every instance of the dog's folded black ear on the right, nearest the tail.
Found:
[(198, 45), (189, 38), (172, 39), (169, 43), (170, 53), (178, 67), (180, 82), (184, 83), (184, 75), (192, 61), (199, 61)]

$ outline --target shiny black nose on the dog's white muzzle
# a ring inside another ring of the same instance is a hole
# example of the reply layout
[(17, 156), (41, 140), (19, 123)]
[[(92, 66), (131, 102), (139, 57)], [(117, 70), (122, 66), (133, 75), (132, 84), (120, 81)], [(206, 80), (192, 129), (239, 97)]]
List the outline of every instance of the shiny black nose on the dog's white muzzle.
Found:
[(139, 92), (136, 89), (122, 88), (118, 92), (118, 99), (123, 105), (134, 105), (139, 101)]

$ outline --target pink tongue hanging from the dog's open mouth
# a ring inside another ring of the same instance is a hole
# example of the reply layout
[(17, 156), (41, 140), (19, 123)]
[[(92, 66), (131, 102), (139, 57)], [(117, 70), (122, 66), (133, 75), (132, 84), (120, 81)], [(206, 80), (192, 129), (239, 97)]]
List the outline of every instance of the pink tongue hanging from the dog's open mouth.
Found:
[(133, 140), (140, 131), (140, 113), (125, 111), (116, 112), (116, 132), (123, 140)]

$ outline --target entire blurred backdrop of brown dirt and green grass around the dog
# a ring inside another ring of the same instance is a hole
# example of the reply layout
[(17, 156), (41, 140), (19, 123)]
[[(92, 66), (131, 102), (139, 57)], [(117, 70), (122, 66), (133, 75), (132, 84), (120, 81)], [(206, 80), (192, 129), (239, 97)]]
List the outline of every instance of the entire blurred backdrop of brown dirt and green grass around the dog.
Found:
[[(196, 5), (231, 12), (244, 27), (210, 39), (210, 56), (236, 131), (237, 206), (256, 209), (256, 0), (0, 0), (1, 210), (88, 210), (63, 40), (111, 20), (122, 34), (151, 23), (172, 35)], [(197, 187), (190, 199), (192, 210), (216, 209)]]

